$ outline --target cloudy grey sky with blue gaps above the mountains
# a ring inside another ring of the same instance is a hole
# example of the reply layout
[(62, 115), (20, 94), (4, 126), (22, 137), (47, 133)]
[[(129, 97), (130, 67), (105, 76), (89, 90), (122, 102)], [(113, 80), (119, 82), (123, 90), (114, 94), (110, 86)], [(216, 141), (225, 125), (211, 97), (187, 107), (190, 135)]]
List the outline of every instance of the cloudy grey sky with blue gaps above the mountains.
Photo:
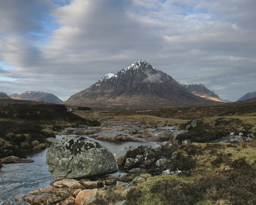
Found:
[(255, 0), (0, 0), (0, 92), (67, 100), (145, 60), (235, 101), (256, 91)]

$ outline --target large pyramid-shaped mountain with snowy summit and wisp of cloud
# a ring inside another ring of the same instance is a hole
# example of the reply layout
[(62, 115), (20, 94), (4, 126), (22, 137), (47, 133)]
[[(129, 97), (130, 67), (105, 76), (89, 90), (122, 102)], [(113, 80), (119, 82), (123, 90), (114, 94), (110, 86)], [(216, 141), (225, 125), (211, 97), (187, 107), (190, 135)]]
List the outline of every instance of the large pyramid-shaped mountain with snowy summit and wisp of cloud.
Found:
[(72, 95), (65, 104), (89, 107), (157, 108), (212, 104), (198, 97), (166, 73), (144, 60), (117, 74), (108, 74), (91, 87)]

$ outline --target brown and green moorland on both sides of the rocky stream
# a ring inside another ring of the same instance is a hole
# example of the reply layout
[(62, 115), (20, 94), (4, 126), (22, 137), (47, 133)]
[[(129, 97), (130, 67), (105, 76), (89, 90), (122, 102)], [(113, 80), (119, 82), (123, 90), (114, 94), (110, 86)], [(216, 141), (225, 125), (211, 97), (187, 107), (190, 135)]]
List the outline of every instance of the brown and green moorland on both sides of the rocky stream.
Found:
[[(1, 101), (2, 155), (8, 154), (6, 150), (15, 153), (21, 149), (32, 149), (33, 141), (44, 143), (46, 137), (54, 136), (65, 127), (76, 128), (84, 124), (101, 125), (104, 128), (109, 121), (124, 121), (152, 128), (175, 126), (186, 129), (193, 119), (201, 119), (196, 127), (187, 129), (187, 132), (178, 135), (173, 141), (161, 144), (154, 151), (151, 164), (137, 163), (127, 169), (127, 173), (112, 177), (114, 180), (111, 182), (109, 177), (89, 179), (104, 183), (104, 187), (98, 187), (94, 203), (256, 203), (256, 98), (184, 108), (93, 108), (82, 111), (73, 107), (73, 110), (75, 111), (67, 112), (64, 105)], [(232, 135), (241, 136), (241, 140), (210, 142), (230, 136), (231, 132)], [(145, 152), (138, 148), (130, 153), (131, 158), (135, 158), (138, 153), (143, 155)], [(167, 159), (167, 163), (156, 167), (155, 162), (159, 159)], [(35, 193), (43, 195), (42, 189)], [(58, 197), (62, 197), (61, 201), (70, 198), (71, 203), (74, 203), (77, 196), (75, 193), (75, 189), (69, 188), (66, 198), (60, 195)], [(64, 204), (61, 201), (58, 203)]]

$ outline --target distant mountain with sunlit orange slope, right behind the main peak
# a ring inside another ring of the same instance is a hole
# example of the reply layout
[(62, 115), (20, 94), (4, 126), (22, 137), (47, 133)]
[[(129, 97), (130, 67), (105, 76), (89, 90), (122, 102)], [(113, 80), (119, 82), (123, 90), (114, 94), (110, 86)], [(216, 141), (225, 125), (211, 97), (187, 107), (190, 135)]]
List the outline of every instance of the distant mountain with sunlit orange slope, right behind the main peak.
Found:
[(202, 98), (206, 98), (208, 100), (213, 100), (217, 102), (225, 102), (225, 100), (222, 100), (220, 97), (218, 97), (217, 94), (214, 93), (214, 91), (209, 90), (207, 87), (204, 86), (204, 84), (187, 84), (179, 82), (179, 84), (189, 90), (194, 95), (200, 96)]

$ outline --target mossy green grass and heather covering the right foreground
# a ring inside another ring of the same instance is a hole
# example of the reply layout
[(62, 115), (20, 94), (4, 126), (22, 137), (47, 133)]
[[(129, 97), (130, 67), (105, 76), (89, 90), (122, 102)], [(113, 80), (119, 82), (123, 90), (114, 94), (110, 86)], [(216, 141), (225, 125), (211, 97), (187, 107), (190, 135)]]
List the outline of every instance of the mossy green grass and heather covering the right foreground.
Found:
[[(179, 163), (194, 161), (180, 175), (147, 177), (127, 193), (101, 191), (102, 203), (115, 204), (255, 204), (255, 141), (239, 143), (189, 143), (174, 153), (187, 156)], [(167, 167), (172, 169), (171, 166)], [(147, 174), (141, 175), (146, 176)], [(150, 176), (150, 175), (149, 175)], [(104, 200), (103, 200), (104, 199)]]

